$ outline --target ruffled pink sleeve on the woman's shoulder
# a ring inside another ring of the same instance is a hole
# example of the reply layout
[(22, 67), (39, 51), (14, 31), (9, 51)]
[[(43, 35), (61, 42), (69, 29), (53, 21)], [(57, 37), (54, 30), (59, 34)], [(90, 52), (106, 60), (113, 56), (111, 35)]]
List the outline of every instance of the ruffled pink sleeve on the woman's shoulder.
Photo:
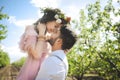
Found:
[(37, 41), (37, 33), (34, 30), (34, 26), (27, 26), (23, 33), (19, 47), (22, 51), (28, 52), (31, 47), (34, 47)]

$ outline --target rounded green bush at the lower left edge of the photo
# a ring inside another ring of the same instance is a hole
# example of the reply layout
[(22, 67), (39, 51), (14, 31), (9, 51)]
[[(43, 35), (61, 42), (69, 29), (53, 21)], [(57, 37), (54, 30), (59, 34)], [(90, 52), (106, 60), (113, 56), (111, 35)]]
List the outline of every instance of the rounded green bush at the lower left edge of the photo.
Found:
[(0, 49), (0, 68), (10, 64), (10, 58), (6, 52)]

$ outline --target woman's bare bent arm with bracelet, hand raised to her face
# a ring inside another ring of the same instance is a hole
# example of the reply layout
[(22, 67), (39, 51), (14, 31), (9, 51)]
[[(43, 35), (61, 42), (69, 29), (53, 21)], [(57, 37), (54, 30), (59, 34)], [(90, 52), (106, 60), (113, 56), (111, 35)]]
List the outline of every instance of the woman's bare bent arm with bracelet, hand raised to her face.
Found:
[(44, 24), (39, 23), (37, 28), (39, 30), (37, 41), (36, 43), (33, 43), (32, 46), (28, 47), (28, 53), (32, 55), (34, 59), (39, 59), (47, 46), (44, 37), (46, 26)]

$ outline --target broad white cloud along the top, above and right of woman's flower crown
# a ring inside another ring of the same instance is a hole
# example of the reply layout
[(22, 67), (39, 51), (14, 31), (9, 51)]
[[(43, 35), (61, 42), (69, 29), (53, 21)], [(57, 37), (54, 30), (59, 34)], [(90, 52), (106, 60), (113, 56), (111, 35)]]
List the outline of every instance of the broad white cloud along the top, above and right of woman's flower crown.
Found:
[[(83, 6), (78, 5), (80, 1), (75, 1), (74, 3), (71, 3), (68, 1), (67, 4), (66, 1), (63, 0), (31, 0), (30, 3), (33, 4), (37, 8), (43, 8), (43, 7), (53, 7), (53, 8), (59, 8), (63, 10), (63, 12), (70, 16), (72, 19), (78, 19), (79, 17), (79, 11), (80, 9), (85, 8), (85, 4)], [(38, 17), (41, 17), (41, 13), (38, 10)]]

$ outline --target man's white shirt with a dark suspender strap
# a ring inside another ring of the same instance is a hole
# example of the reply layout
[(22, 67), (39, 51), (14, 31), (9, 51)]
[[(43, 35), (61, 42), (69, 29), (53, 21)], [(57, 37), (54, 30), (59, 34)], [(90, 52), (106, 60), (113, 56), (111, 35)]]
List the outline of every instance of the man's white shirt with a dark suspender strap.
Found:
[(63, 50), (53, 51), (41, 64), (36, 80), (65, 80), (68, 61)]

